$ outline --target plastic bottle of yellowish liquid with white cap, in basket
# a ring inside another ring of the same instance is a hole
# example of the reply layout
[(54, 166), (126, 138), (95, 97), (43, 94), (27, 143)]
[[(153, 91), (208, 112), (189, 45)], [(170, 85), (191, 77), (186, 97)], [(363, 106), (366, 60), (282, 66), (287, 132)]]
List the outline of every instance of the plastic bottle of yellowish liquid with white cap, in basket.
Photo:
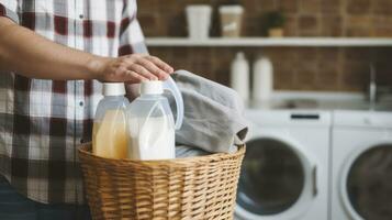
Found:
[(124, 84), (103, 84), (104, 98), (98, 103), (92, 128), (92, 152), (98, 156), (127, 158), (125, 110), (130, 102), (124, 95)]

